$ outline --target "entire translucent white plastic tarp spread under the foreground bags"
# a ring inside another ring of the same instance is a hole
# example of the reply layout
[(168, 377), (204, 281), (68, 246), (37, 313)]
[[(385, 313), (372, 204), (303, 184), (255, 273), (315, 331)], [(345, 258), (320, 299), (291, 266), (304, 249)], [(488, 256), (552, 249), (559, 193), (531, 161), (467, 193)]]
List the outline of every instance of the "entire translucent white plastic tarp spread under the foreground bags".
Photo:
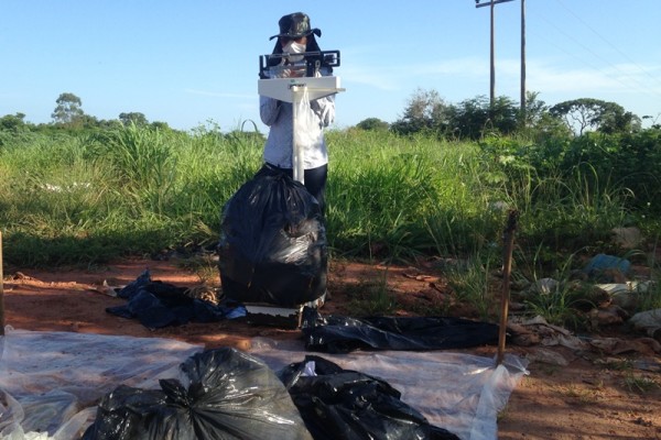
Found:
[[(302, 341), (256, 338), (251, 346), (273, 370), (311, 354)], [(158, 389), (202, 350), (170, 339), (8, 328), (0, 338), (0, 439), (78, 438), (100, 397), (120, 384)], [(444, 351), (314, 354), (388, 382), (432, 425), (466, 440), (497, 438), (498, 411), (527, 374), (527, 361), (513, 355), (496, 367), (494, 359)]]

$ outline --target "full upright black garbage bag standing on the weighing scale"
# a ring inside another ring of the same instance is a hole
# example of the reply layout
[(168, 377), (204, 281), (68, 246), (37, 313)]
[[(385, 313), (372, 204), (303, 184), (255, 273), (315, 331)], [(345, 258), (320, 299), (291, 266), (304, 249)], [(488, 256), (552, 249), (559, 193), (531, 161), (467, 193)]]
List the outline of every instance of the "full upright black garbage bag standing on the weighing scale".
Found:
[(281, 172), (262, 168), (227, 201), (218, 244), (223, 292), (283, 307), (326, 292), (326, 229), (316, 199)]

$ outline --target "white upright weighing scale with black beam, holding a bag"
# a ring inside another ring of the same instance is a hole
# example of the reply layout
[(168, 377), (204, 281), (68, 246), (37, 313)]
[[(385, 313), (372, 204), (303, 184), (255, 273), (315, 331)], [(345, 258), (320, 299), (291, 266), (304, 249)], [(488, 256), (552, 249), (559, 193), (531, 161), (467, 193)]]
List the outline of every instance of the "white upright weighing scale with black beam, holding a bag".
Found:
[[(297, 118), (297, 106), (304, 98), (311, 101), (325, 98), (330, 95), (345, 91), (340, 87), (337, 76), (321, 76), (332, 73), (333, 67), (339, 66), (339, 51), (307, 52), (296, 54), (301, 62), (289, 63), (290, 54), (262, 55), (260, 56), (260, 79), (258, 80), (258, 92), (260, 96), (278, 99), (292, 103), (292, 124), (295, 125)], [(280, 58), (278, 66), (268, 66), (268, 62)], [(281, 78), (283, 70), (291, 75)], [(301, 184), (304, 183), (303, 174), (303, 148), (300, 147), (296, 130), (293, 132), (292, 168), (293, 178)], [(248, 314), (248, 320), (269, 324), (288, 324), (296, 322), (301, 327), (304, 307), (319, 308), (326, 299), (322, 297), (302, 304), (300, 307), (289, 308), (270, 304), (243, 304)]]

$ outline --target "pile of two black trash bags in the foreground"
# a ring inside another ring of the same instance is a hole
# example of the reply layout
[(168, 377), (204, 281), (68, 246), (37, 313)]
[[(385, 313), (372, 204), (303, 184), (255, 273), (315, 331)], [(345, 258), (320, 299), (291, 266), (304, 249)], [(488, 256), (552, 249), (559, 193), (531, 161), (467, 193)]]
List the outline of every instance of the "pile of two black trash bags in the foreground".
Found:
[(83, 440), (447, 439), (387, 382), (306, 356), (280, 372), (231, 348), (196, 353), (161, 389), (120, 385)]

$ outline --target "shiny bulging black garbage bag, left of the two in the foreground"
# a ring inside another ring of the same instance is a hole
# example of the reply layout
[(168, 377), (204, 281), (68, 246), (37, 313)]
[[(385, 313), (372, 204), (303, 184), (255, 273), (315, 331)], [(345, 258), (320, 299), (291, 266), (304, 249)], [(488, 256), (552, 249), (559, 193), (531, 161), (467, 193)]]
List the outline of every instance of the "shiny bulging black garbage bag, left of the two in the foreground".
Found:
[(263, 362), (234, 349), (208, 350), (181, 365), (187, 386), (120, 386), (98, 405), (83, 440), (311, 440), (297, 408)]

